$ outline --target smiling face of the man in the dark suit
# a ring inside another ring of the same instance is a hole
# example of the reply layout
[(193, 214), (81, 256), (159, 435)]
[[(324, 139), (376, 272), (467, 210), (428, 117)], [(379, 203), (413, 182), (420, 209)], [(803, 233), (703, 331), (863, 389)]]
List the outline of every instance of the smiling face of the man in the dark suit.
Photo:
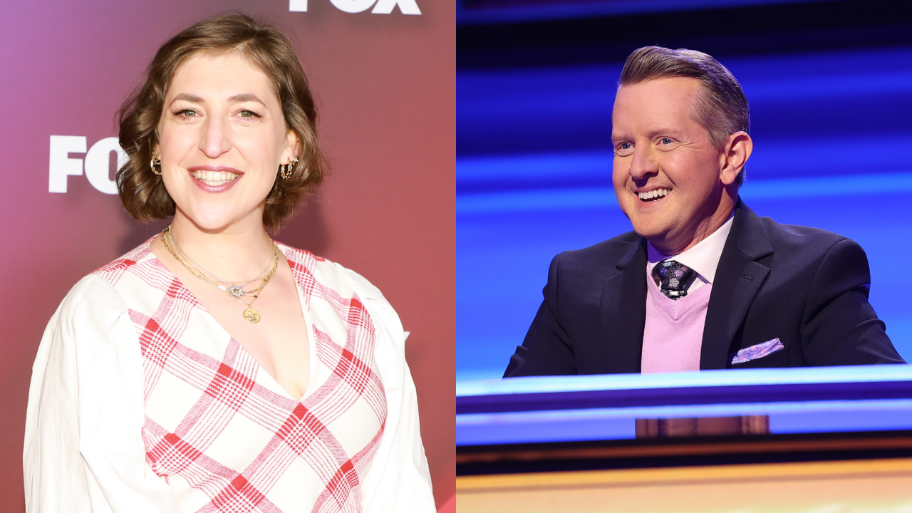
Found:
[(637, 234), (667, 254), (718, 227), (711, 225), (720, 216), (725, 158), (693, 118), (699, 91), (689, 78), (621, 86), (612, 114), (617, 202)]

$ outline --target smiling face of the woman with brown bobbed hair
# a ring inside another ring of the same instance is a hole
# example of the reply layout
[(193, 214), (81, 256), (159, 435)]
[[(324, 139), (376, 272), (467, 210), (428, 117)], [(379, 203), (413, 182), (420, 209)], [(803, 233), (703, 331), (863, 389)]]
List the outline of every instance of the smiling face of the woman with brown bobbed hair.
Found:
[(269, 78), (235, 53), (181, 64), (165, 95), (159, 141), (177, 215), (215, 232), (262, 224), (278, 166), (297, 146)]

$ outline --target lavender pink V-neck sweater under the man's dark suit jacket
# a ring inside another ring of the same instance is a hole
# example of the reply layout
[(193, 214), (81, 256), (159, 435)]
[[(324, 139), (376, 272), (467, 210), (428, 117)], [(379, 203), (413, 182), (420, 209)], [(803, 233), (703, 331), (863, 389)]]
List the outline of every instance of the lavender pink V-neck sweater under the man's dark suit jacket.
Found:
[(676, 300), (662, 294), (651, 277), (647, 281), (641, 372), (700, 371), (703, 325), (712, 284)]

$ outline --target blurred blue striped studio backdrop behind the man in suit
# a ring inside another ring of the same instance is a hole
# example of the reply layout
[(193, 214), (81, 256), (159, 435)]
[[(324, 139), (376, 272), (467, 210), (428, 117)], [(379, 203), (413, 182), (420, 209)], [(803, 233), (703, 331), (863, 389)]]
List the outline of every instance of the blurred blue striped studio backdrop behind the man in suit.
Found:
[(462, 0), (457, 28), (457, 380), (498, 378), (557, 253), (631, 229), (611, 186), (630, 51), (705, 51), (751, 104), (741, 197), (855, 239), (912, 361), (912, 24), (888, 2)]

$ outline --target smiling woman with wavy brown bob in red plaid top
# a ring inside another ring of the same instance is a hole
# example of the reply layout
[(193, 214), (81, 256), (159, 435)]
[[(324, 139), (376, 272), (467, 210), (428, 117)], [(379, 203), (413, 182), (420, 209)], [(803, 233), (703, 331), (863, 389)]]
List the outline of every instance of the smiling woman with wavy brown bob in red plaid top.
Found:
[(120, 144), (130, 214), (173, 219), (48, 323), (26, 509), (433, 511), (395, 310), (265, 230), (323, 176), (287, 39), (247, 16), (173, 37)]

